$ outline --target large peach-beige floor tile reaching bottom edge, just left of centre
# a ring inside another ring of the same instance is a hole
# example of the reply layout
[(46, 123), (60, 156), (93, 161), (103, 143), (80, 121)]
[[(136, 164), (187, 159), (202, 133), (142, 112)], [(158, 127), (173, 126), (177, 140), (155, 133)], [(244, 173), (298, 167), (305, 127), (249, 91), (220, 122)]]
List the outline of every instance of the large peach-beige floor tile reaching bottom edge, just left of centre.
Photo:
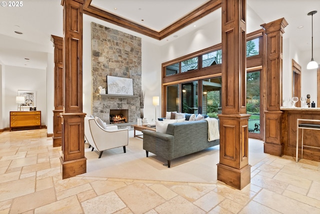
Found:
[(143, 183), (132, 183), (116, 189), (115, 192), (119, 195), (121, 200), (126, 202), (126, 205), (133, 213), (144, 213), (165, 202), (162, 197)]

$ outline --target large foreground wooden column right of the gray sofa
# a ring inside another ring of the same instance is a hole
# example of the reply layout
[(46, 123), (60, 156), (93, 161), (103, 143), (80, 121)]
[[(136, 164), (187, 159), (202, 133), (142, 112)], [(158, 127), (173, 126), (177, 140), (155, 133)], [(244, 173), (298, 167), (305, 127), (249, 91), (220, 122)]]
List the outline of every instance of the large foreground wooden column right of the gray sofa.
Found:
[(217, 179), (242, 189), (250, 183), (246, 113), (246, 0), (222, 0), (222, 112)]

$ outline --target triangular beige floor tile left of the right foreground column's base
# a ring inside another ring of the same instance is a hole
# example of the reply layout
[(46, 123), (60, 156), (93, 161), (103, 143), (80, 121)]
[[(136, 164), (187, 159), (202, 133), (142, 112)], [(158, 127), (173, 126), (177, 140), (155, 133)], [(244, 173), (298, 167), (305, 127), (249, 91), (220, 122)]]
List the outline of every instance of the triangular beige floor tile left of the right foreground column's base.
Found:
[(204, 194), (206, 194), (207, 192), (213, 190), (214, 187), (174, 185), (170, 187), (170, 189), (176, 192), (177, 194), (181, 195), (188, 201), (193, 202), (196, 199), (203, 196)]

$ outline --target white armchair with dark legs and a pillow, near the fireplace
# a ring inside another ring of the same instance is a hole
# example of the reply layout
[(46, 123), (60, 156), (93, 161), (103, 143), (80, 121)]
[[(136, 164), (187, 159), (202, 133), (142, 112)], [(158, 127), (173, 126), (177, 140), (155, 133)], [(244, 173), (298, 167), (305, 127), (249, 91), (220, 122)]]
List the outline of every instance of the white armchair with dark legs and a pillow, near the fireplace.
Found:
[(116, 125), (116, 127), (112, 126), (103, 129), (94, 118), (84, 117), (84, 136), (92, 146), (92, 150), (96, 148), (100, 152), (98, 158), (101, 157), (103, 150), (120, 146), (123, 146), (125, 153), (125, 146), (129, 142), (129, 131), (127, 128), (117, 129)]

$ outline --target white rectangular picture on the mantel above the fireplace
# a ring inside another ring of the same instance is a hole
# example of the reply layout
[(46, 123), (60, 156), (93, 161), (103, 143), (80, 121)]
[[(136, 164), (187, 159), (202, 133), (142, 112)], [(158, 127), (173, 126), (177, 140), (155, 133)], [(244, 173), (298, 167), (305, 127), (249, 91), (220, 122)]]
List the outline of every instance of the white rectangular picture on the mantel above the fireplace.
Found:
[(131, 78), (107, 75), (106, 84), (107, 94), (133, 95)]

